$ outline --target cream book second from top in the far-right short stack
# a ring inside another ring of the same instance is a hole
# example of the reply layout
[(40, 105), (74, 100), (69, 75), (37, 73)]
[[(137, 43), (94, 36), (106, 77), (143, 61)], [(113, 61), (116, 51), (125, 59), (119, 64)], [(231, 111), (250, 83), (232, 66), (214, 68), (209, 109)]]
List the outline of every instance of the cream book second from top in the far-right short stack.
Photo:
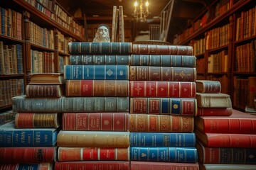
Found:
[(199, 108), (232, 108), (228, 94), (201, 94), (196, 93)]

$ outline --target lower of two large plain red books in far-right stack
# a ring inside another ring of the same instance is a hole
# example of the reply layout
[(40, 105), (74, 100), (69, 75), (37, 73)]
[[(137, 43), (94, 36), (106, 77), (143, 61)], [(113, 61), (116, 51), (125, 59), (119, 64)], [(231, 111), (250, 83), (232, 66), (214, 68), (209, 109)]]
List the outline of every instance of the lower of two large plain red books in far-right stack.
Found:
[(255, 134), (235, 134), (235, 133), (205, 133), (195, 130), (196, 140), (206, 147), (245, 147), (256, 148)]

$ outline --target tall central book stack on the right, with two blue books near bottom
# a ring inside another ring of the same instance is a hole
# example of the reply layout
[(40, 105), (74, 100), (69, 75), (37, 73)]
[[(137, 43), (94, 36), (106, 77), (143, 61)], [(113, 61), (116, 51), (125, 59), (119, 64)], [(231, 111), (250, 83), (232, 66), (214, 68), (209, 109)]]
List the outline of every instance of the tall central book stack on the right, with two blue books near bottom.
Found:
[(191, 46), (133, 44), (129, 67), (131, 170), (199, 169), (196, 57)]

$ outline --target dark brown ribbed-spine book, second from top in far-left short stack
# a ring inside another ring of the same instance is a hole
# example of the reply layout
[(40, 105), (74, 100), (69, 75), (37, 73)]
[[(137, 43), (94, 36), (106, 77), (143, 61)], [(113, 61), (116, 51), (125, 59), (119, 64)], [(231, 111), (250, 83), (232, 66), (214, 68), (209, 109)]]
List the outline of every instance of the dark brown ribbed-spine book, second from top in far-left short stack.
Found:
[(65, 96), (64, 84), (28, 84), (26, 97), (32, 98), (59, 98)]

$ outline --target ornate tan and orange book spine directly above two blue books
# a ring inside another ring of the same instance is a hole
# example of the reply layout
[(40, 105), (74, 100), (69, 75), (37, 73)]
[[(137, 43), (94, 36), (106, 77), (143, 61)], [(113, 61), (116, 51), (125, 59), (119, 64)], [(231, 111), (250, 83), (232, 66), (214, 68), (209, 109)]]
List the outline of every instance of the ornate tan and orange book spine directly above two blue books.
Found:
[(129, 115), (130, 132), (193, 132), (193, 116)]

